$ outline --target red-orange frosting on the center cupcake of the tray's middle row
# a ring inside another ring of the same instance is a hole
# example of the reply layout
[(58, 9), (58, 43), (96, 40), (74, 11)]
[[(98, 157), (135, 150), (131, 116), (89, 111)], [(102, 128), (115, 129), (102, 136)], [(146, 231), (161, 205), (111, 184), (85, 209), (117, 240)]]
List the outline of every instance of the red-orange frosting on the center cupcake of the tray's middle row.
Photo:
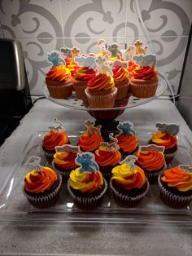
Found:
[(119, 150), (107, 151), (100, 147), (94, 152), (94, 155), (99, 166), (116, 166), (121, 161)]

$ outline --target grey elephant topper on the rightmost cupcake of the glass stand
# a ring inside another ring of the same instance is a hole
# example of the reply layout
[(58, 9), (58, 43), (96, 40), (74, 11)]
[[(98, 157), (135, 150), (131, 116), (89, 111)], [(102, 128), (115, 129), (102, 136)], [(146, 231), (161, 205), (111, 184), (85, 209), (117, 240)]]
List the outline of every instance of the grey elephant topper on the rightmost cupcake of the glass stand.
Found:
[(156, 55), (134, 55), (133, 61), (140, 67), (155, 67), (156, 64)]

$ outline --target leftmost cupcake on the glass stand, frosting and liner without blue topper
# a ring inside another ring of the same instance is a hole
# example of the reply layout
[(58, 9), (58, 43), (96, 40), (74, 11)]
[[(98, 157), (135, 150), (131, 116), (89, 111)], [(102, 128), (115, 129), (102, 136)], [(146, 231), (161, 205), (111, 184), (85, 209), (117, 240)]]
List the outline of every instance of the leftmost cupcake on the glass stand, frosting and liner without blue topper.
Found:
[(68, 68), (59, 64), (50, 68), (46, 73), (46, 86), (50, 97), (67, 99), (72, 95), (72, 76)]

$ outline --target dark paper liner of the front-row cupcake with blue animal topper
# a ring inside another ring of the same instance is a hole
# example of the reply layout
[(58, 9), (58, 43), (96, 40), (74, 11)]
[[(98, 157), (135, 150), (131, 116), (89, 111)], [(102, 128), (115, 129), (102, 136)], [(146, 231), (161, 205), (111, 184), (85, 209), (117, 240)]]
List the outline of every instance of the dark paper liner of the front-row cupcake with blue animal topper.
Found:
[(107, 191), (107, 181), (103, 179), (103, 182), (105, 183), (105, 187), (103, 189), (103, 192), (101, 192), (98, 196), (93, 196), (93, 197), (82, 197), (82, 196), (76, 196), (73, 192), (72, 189), (70, 188), (70, 179), (68, 179), (68, 192), (72, 196), (76, 206), (79, 209), (82, 210), (93, 210), (98, 207), (98, 205), (101, 204), (103, 200), (103, 196), (105, 192)]

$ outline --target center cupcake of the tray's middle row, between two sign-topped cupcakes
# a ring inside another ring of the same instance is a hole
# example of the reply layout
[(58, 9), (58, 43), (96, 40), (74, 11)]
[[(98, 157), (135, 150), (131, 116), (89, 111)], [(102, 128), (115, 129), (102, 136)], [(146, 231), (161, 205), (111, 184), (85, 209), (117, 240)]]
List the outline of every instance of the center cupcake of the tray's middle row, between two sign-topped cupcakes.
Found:
[(121, 161), (120, 147), (117, 145), (117, 139), (111, 133), (109, 135), (111, 143), (101, 143), (100, 147), (94, 152), (95, 161), (98, 163), (99, 170), (101, 170), (103, 177), (107, 181), (111, 178), (111, 170)]

